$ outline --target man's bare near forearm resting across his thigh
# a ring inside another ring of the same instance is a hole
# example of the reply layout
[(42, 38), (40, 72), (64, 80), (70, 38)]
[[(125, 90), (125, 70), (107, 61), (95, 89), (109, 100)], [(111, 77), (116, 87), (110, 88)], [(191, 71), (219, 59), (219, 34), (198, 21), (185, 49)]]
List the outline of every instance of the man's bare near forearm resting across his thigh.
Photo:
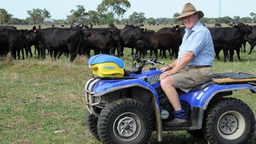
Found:
[[(187, 64), (189, 64), (189, 62), (193, 59), (194, 57), (194, 53), (193, 52), (186, 52), (182, 58), (180, 59), (180, 62), (175, 65), (174, 67), (171, 67), (171, 70), (165, 71), (163, 72), (163, 74), (161, 74), (159, 80), (161, 81), (161, 79), (165, 79), (167, 76), (171, 76), (173, 74), (176, 74), (177, 72), (179, 72), (180, 70), (182, 70), (183, 68), (185, 68), (187, 66)], [(175, 60), (176, 61), (176, 60)], [(174, 61), (174, 62), (175, 62)], [(174, 63), (173, 62), (173, 63)], [(173, 64), (171, 63), (171, 65)]]

